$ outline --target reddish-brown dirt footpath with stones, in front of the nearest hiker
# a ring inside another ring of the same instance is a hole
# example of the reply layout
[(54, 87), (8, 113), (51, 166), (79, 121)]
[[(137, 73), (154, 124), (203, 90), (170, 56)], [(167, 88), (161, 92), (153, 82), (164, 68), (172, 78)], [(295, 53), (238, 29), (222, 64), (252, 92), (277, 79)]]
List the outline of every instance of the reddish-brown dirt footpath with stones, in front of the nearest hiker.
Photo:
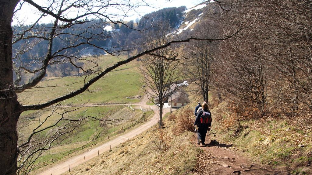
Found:
[[(194, 175), (286, 175), (278, 169), (262, 165), (246, 158), (240, 153), (229, 149), (232, 145), (218, 143), (211, 140), (211, 135), (206, 136), (208, 141), (206, 146), (198, 145), (203, 152), (198, 156), (198, 167), (194, 170)], [(197, 139), (194, 138), (194, 142)]]

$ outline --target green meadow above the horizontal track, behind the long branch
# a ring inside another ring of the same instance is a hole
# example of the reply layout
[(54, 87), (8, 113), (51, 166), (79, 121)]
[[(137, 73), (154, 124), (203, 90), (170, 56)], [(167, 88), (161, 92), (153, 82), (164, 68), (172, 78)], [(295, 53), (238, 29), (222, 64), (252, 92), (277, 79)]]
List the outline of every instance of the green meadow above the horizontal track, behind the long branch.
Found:
[[(105, 68), (120, 58), (104, 55), (99, 58), (101, 68)], [(118, 69), (108, 73), (101, 80), (97, 81), (78, 97), (71, 98), (63, 102), (67, 104), (120, 104), (134, 103), (139, 100), (136, 98), (142, 95), (140, 87), (137, 85), (139, 70), (138, 62), (133, 61), (123, 65)], [(37, 87), (39, 90), (29, 89), (19, 94), (19, 101), (22, 104), (34, 104), (47, 102), (49, 99), (62, 96), (68, 92), (78, 89), (84, 83), (84, 77), (69, 76), (59, 78), (49, 78), (40, 82)], [(129, 97), (129, 98), (127, 98)]]

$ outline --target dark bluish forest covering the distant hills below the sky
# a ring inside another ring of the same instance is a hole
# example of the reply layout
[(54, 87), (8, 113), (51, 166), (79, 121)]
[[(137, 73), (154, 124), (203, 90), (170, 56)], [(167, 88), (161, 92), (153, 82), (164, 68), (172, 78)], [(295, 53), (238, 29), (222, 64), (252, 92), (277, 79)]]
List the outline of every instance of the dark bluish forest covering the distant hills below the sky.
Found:
[[(150, 26), (159, 26), (165, 22), (168, 22), (171, 29), (174, 30), (183, 21), (184, 10), (186, 10), (185, 6), (164, 8), (146, 14), (144, 17), (137, 19), (136, 21), (132, 20), (125, 22), (128, 27), (119, 23), (114, 24), (112, 22), (107, 22), (106, 19), (86, 19), (83, 24), (75, 24), (70, 27), (64, 27), (65, 24), (60, 24), (58, 25), (59, 36), (55, 37), (53, 40), (54, 45), (52, 52), (55, 52), (60, 48), (68, 48), (62, 50), (60, 54), (72, 54), (75, 57), (100, 56), (107, 54), (100, 48), (114, 52), (122, 50), (124, 45), (128, 45), (126, 50), (131, 52), (143, 42), (142, 35), (140, 34), (141, 31), (144, 31)], [(106, 30), (105, 27), (107, 26), (111, 26), (111, 30)], [(45, 57), (48, 50), (46, 47), (48, 41), (41, 37), (47, 36), (53, 28), (53, 23), (36, 24), (36, 26), (15, 25), (12, 26), (12, 28), (14, 31), (14, 64), (17, 67), (20, 65), (27, 65), (28, 69), (36, 68), (39, 66), (40, 61), (34, 62), (34, 59), (40, 60), (40, 58)], [(32, 28), (32, 30), (27, 31), (28, 28)], [(44, 31), (42, 29), (44, 29)], [(149, 30), (158, 29), (150, 28)], [(101, 33), (104, 34), (97, 35)], [(34, 34), (39, 34), (41, 37), (32, 37)], [(26, 38), (28, 37), (27, 40), (17, 40), (21, 35), (24, 35)], [(73, 36), (78, 37), (73, 38)], [(90, 37), (92, 38), (90, 39)], [(71, 45), (87, 42), (88, 44), (71, 47)], [(94, 47), (94, 45), (96, 45), (96, 47)], [(68, 75), (79, 75), (79, 70), (77, 70), (78, 72), (75, 71), (76, 68), (68, 61), (63, 61), (62, 64), (51, 64), (50, 67), (52, 72), (53, 70), (56, 72), (52, 73), (54, 76), (63, 77)], [(72, 72), (74, 72), (74, 74)]]

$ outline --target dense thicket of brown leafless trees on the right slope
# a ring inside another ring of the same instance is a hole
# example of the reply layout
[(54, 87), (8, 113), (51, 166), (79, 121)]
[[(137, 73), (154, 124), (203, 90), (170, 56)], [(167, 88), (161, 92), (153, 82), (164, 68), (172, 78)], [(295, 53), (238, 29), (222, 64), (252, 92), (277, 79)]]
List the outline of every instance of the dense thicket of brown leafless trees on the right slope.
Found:
[(220, 65), (227, 78), (219, 82), (236, 100), (291, 115), (312, 109), (310, 7), (310, 1), (236, 1), (231, 13), (222, 14), (226, 29), (254, 21), (223, 45)]

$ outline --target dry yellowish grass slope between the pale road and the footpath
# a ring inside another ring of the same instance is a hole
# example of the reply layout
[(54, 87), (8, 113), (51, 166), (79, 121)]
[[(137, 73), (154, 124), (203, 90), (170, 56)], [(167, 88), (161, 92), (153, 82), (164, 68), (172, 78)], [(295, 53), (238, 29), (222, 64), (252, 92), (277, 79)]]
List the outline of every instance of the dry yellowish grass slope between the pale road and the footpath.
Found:
[[(175, 121), (166, 120), (163, 130), (156, 127), (65, 174), (191, 174), (199, 154), (194, 134), (175, 135)], [(160, 149), (155, 143), (166, 147)]]

